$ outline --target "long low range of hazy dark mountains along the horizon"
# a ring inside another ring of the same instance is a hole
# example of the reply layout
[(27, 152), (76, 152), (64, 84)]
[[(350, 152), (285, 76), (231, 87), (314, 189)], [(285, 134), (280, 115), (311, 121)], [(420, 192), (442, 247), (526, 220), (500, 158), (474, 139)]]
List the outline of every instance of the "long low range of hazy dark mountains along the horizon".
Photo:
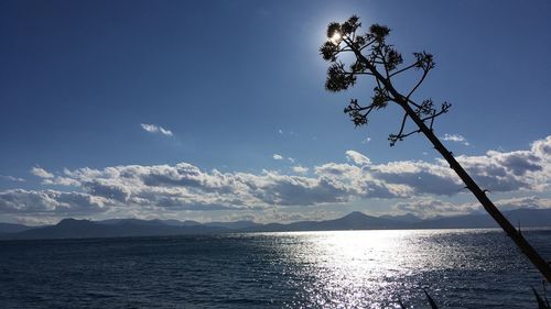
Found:
[[(520, 223), (521, 228), (551, 227), (551, 209), (518, 209), (505, 211), (504, 216), (514, 225)], [(85, 239), (228, 232), (468, 228), (497, 228), (497, 224), (488, 214), (482, 213), (422, 220), (412, 214), (372, 217), (358, 211), (334, 220), (300, 221), (289, 224), (260, 224), (251, 221), (199, 223), (177, 220), (110, 219), (89, 221), (63, 219), (55, 225), (41, 228), (0, 223), (0, 239)]]

